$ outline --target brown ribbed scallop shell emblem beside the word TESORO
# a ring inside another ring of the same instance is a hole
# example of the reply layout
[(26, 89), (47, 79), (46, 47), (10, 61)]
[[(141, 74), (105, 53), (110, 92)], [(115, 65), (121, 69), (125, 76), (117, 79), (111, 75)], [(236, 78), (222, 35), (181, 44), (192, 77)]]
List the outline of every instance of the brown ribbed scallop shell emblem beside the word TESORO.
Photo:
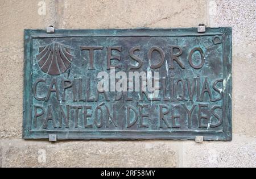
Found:
[(69, 69), (72, 57), (70, 48), (59, 43), (52, 43), (40, 47), (36, 59), (44, 73), (55, 76)]

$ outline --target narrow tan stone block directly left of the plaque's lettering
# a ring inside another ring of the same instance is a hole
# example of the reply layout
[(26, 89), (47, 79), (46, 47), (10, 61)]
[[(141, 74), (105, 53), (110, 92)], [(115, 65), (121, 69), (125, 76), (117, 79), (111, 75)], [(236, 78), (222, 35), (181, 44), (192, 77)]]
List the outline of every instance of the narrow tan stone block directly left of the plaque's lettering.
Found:
[(22, 137), (23, 57), (0, 53), (0, 138)]

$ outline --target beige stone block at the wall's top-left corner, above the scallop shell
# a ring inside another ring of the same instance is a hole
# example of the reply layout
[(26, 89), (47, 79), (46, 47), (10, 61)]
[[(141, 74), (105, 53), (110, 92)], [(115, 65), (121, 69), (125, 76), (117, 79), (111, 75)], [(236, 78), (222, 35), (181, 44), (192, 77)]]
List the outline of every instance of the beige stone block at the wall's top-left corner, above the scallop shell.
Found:
[[(44, 3), (46, 12), (44, 13)], [(9, 0), (1, 2), (0, 53), (23, 52), (25, 28), (43, 28), (55, 23), (55, 1)]]

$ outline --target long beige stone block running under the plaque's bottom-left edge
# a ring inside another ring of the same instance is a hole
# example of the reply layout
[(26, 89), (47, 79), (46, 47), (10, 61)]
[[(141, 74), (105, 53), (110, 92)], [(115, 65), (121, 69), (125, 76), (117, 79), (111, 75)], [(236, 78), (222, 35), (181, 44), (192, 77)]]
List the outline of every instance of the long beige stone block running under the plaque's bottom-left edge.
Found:
[[(3, 167), (176, 167), (179, 143), (168, 141), (1, 140)], [(45, 154), (45, 155), (44, 155)]]

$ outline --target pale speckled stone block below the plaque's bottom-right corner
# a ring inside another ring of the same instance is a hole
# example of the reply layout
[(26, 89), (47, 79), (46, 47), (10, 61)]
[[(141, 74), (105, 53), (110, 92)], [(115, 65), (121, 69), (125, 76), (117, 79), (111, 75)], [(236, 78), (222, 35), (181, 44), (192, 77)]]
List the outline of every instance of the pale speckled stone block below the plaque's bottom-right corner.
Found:
[(234, 135), (231, 142), (187, 141), (183, 145), (184, 167), (256, 167), (256, 140)]

